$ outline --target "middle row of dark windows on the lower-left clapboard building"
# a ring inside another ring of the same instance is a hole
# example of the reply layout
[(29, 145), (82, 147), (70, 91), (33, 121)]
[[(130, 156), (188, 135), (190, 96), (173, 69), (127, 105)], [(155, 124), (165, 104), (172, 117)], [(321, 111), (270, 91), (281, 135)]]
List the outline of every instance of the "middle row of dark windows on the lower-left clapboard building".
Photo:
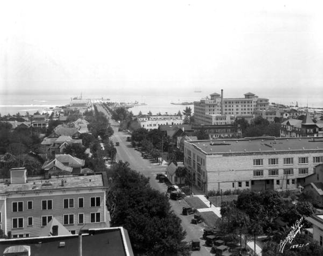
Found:
[[(42, 216), (41, 217), (41, 226), (44, 227), (52, 220), (53, 216)], [(94, 212), (90, 213), (90, 222), (97, 223), (101, 221), (101, 213)], [(74, 224), (74, 214), (64, 214), (63, 215), (63, 224), (71, 225)], [(84, 224), (84, 213), (78, 214), (78, 224)], [(27, 226), (34, 225), (34, 217), (27, 217)], [(24, 228), (24, 218), (12, 218), (12, 228)]]

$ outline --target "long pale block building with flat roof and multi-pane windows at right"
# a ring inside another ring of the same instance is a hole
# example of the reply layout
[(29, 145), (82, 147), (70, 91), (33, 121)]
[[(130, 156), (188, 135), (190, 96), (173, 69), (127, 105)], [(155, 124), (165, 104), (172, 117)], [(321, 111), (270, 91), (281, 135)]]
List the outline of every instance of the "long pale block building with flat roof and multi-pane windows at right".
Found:
[(205, 193), (296, 189), (322, 161), (323, 140), (309, 138), (184, 142), (185, 167)]

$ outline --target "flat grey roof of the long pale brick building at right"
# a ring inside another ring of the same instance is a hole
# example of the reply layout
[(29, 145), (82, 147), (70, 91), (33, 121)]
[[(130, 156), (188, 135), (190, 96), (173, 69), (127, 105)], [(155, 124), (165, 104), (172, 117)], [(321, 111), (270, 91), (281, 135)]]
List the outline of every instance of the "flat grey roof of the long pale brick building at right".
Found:
[[(314, 140), (313, 140), (314, 139)], [(215, 139), (186, 141), (206, 154), (288, 151), (288, 150), (323, 150), (323, 137), (303, 138), (250, 138), (250, 139)]]

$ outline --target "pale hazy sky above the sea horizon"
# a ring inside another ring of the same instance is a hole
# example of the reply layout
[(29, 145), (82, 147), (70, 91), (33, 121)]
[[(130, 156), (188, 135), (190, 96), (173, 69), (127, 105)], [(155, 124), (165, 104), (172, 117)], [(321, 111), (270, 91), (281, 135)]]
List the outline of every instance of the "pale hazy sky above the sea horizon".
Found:
[[(0, 94), (323, 95), (320, 1), (3, 1)], [(205, 93), (204, 93), (205, 92)]]

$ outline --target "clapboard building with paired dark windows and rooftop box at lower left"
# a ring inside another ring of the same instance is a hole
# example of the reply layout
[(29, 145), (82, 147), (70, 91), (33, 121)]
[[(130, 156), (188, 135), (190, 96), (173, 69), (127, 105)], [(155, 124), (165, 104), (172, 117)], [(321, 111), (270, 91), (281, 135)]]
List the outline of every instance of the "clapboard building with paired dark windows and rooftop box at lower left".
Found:
[(109, 227), (101, 174), (27, 179), (25, 168), (10, 173), (10, 182), (0, 183), (0, 216), (1, 228), (12, 238), (47, 236), (47, 224), (54, 219), (71, 234), (85, 224)]

